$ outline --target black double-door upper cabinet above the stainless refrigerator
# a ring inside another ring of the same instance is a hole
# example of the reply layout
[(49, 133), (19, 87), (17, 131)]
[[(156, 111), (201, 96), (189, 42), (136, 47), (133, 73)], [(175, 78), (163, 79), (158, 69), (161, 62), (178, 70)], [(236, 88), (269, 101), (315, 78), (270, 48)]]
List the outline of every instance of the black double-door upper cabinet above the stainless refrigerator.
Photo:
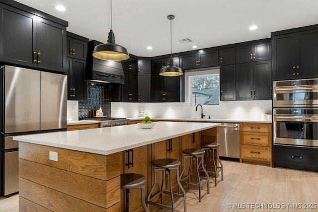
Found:
[(0, 61), (65, 72), (68, 22), (16, 5), (23, 10), (0, 3)]

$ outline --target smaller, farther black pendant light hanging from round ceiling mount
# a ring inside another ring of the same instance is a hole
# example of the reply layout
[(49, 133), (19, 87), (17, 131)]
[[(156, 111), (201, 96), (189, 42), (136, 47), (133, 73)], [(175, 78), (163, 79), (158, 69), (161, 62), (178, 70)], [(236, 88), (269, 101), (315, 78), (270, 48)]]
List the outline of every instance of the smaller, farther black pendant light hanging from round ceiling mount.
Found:
[(172, 61), (172, 30), (171, 30), (171, 20), (174, 19), (174, 15), (168, 15), (168, 20), (170, 20), (170, 60), (169, 60), (169, 65), (166, 67), (163, 67), (159, 74), (161, 76), (180, 76), (183, 74), (183, 71), (181, 68), (173, 66), (173, 61)]

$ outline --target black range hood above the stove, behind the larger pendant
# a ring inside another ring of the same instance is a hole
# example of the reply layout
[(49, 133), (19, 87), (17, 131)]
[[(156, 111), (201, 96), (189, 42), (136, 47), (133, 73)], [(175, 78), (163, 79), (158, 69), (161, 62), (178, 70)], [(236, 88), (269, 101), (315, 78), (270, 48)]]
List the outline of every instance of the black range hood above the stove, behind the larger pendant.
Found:
[(89, 41), (87, 54), (86, 79), (101, 83), (125, 84), (125, 74), (121, 62), (104, 61), (92, 56), (94, 47), (101, 44), (98, 41)]

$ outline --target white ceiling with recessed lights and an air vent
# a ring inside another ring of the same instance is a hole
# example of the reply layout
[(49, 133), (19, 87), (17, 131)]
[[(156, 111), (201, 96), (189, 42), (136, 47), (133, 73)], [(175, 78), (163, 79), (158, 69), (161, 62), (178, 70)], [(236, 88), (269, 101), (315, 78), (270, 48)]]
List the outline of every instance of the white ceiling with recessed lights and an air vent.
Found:
[[(110, 0), (16, 0), (69, 22), (68, 31), (107, 42)], [(63, 4), (66, 11), (55, 9)], [(116, 43), (141, 57), (269, 38), (270, 32), (318, 24), (318, 0), (113, 0)], [(250, 31), (250, 25), (258, 29)], [(193, 43), (178, 39), (191, 38)], [(147, 50), (152, 46), (152, 50)]]

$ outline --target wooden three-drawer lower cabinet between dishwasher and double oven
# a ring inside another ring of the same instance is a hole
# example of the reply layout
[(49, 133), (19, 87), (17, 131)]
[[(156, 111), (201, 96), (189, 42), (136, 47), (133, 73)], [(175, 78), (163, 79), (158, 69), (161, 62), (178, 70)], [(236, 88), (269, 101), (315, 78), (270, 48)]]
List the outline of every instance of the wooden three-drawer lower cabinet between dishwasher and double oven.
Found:
[(240, 162), (272, 165), (271, 124), (240, 124)]

